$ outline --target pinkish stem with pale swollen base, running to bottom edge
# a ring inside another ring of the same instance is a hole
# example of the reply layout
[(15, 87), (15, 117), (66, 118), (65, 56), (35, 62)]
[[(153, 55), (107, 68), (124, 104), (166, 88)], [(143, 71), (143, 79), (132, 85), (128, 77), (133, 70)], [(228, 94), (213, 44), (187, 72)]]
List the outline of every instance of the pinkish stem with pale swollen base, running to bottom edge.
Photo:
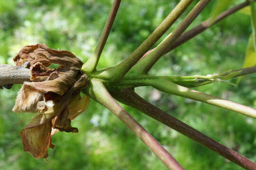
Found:
[(91, 79), (87, 93), (118, 117), (170, 170), (183, 170), (182, 166), (162, 147), (146, 129), (126, 112), (110, 95), (101, 80)]

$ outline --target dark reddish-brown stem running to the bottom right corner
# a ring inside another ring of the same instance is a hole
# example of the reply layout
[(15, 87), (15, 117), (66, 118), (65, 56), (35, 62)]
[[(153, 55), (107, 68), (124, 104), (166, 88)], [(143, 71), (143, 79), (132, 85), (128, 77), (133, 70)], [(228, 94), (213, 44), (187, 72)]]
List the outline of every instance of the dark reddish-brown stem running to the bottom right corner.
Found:
[(119, 102), (122, 102), (132, 108), (135, 108), (145, 113), (146, 115), (152, 117), (153, 119), (160, 121), (166, 126), (173, 128), (174, 130), (202, 144), (203, 146), (209, 148), (213, 152), (218, 153), (224, 158), (236, 163), (237, 165), (247, 170), (256, 170), (256, 163), (250, 161), (246, 157), (229, 149), (228, 147), (218, 143), (217, 141), (211, 139), (210, 137), (204, 135), (203, 133), (197, 131), (196, 129), (188, 126), (187, 124), (174, 118), (170, 114), (158, 109), (151, 103), (145, 101), (143, 98), (138, 96), (132, 89), (127, 88), (118, 92), (111, 92), (111, 94), (117, 100), (119, 100)]

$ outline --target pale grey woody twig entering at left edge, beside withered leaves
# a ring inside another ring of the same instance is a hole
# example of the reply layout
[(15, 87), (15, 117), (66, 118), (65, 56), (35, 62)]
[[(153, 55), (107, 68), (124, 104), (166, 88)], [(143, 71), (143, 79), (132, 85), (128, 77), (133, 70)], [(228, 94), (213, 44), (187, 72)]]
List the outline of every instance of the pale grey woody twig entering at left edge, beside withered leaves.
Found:
[(30, 81), (29, 69), (0, 64), (0, 86), (7, 84), (23, 84), (25, 81)]

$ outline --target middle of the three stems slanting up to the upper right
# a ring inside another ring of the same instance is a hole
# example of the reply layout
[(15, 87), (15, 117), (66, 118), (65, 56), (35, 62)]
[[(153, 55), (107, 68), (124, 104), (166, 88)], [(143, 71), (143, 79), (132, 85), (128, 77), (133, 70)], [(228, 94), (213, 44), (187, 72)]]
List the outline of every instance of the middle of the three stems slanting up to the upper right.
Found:
[(191, 12), (183, 19), (174, 31), (169, 34), (164, 41), (162, 41), (154, 51), (152, 51), (146, 58), (137, 63), (129, 72), (137, 74), (146, 74), (155, 62), (169, 49), (170, 45), (190, 26), (192, 21), (201, 13), (210, 0), (200, 0), (198, 4), (191, 10)]

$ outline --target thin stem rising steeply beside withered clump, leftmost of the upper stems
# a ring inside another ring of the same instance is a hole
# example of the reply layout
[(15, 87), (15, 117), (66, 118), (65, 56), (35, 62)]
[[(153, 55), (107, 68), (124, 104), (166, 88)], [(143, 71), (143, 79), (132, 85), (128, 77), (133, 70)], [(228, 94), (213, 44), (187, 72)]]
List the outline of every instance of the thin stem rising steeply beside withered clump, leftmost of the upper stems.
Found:
[(105, 43), (108, 39), (109, 34), (110, 34), (110, 30), (114, 23), (115, 17), (117, 15), (120, 3), (121, 3), (121, 0), (114, 0), (114, 2), (112, 4), (112, 8), (110, 9), (110, 14), (109, 14), (108, 20), (106, 21), (106, 24), (103, 28), (103, 31), (101, 33), (100, 40), (99, 40), (95, 50), (93, 51), (93, 54), (91, 55), (91, 57), (82, 66), (82, 70), (85, 71), (86, 73), (91, 73), (97, 67), (99, 59), (101, 57), (101, 52), (105, 46)]

